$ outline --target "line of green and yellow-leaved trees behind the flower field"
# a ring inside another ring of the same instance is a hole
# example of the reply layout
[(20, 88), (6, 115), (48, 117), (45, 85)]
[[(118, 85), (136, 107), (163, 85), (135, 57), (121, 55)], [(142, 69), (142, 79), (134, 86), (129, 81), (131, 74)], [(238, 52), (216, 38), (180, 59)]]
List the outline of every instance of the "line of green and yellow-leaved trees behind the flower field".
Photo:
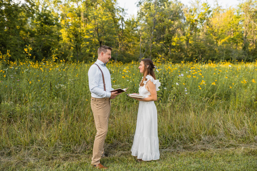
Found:
[(23, 59), (52, 56), (91, 61), (101, 45), (112, 58), (130, 62), (162, 56), (174, 62), (257, 58), (257, 1), (236, 8), (195, 1), (139, 0), (136, 17), (116, 0), (26, 0), (0, 2), (0, 51)]

